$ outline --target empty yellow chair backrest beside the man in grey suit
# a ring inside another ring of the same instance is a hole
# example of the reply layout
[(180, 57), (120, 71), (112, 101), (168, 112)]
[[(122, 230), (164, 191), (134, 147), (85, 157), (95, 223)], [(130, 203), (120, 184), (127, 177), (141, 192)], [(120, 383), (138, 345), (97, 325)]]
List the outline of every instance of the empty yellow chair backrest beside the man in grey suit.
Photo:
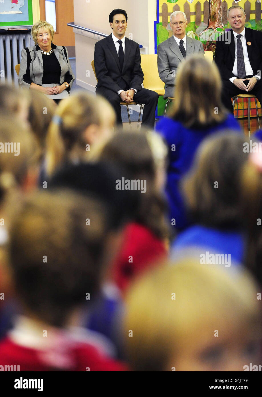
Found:
[(144, 88), (152, 91), (164, 90), (165, 83), (158, 75), (157, 54), (142, 54), (141, 67), (144, 73)]

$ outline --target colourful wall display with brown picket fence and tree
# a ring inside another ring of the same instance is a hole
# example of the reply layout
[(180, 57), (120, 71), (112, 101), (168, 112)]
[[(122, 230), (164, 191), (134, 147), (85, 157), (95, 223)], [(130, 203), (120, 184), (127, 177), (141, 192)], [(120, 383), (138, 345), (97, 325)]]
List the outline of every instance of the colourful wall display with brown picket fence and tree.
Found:
[[(227, 10), (231, 6), (240, 6), (245, 10), (245, 27), (262, 31), (261, 1), (156, 0), (156, 2), (157, 21), (155, 22), (155, 54), (157, 53), (158, 44), (168, 39), (173, 34), (169, 21), (170, 15), (174, 11), (181, 11), (186, 14), (188, 22), (186, 34), (193, 39), (200, 40), (203, 43), (204, 50), (212, 51), (213, 54), (216, 50), (216, 39), (224, 33), (225, 29), (231, 29), (227, 21)], [(158, 105), (160, 105), (160, 101)], [(247, 109), (245, 109), (244, 105), (239, 110), (243, 112), (242, 116), (242, 113), (238, 111), (240, 117), (247, 116)]]

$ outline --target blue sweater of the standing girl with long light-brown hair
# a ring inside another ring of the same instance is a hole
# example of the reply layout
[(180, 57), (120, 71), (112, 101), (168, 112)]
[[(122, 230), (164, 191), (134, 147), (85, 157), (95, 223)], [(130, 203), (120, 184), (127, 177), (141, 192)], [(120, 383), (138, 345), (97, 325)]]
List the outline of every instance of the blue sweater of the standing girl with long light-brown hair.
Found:
[(186, 216), (179, 183), (189, 171), (195, 152), (203, 139), (218, 131), (222, 132), (223, 129), (240, 132), (241, 126), (233, 114), (228, 114), (221, 124), (202, 130), (187, 129), (179, 121), (174, 121), (168, 117), (160, 119), (156, 124), (156, 131), (162, 135), (168, 145), (169, 166), (166, 194), (170, 208), (170, 222), (171, 219), (175, 219), (177, 229), (184, 229), (190, 224)]

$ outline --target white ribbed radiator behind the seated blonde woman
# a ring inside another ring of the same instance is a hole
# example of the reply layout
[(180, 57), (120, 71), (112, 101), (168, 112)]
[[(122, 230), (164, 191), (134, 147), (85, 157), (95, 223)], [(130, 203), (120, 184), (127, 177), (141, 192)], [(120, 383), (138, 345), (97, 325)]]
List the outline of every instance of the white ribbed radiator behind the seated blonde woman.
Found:
[(20, 64), (23, 48), (34, 45), (30, 33), (0, 35), (0, 82), (18, 85), (15, 65)]

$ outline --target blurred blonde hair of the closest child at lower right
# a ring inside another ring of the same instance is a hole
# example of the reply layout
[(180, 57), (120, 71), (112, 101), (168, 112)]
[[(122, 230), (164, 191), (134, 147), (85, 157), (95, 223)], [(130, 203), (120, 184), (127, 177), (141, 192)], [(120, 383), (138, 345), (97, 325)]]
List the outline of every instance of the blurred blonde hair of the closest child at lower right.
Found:
[[(219, 325), (252, 327), (259, 318), (256, 290), (245, 272), (233, 277), (218, 265), (192, 258), (137, 280), (126, 304), (125, 345), (137, 371), (164, 370), (192, 333), (202, 335), (203, 325), (214, 332)], [(133, 337), (128, 337), (130, 330)]]

